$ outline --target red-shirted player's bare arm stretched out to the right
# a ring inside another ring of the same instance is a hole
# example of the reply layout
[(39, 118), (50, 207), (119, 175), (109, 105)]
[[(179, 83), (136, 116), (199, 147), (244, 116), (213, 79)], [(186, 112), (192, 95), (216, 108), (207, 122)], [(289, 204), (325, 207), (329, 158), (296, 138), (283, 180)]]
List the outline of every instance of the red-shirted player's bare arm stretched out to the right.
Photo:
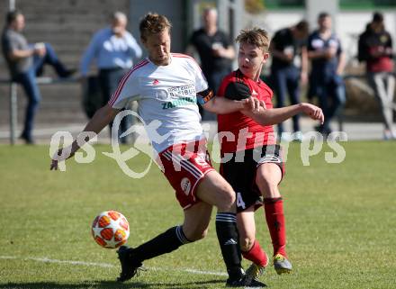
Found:
[(298, 113), (305, 113), (310, 116), (312, 120), (320, 121), (320, 123), (323, 123), (325, 120), (320, 107), (307, 103), (294, 104), (281, 108), (260, 109), (254, 112), (244, 110), (242, 113), (261, 125), (273, 125), (284, 122)]

